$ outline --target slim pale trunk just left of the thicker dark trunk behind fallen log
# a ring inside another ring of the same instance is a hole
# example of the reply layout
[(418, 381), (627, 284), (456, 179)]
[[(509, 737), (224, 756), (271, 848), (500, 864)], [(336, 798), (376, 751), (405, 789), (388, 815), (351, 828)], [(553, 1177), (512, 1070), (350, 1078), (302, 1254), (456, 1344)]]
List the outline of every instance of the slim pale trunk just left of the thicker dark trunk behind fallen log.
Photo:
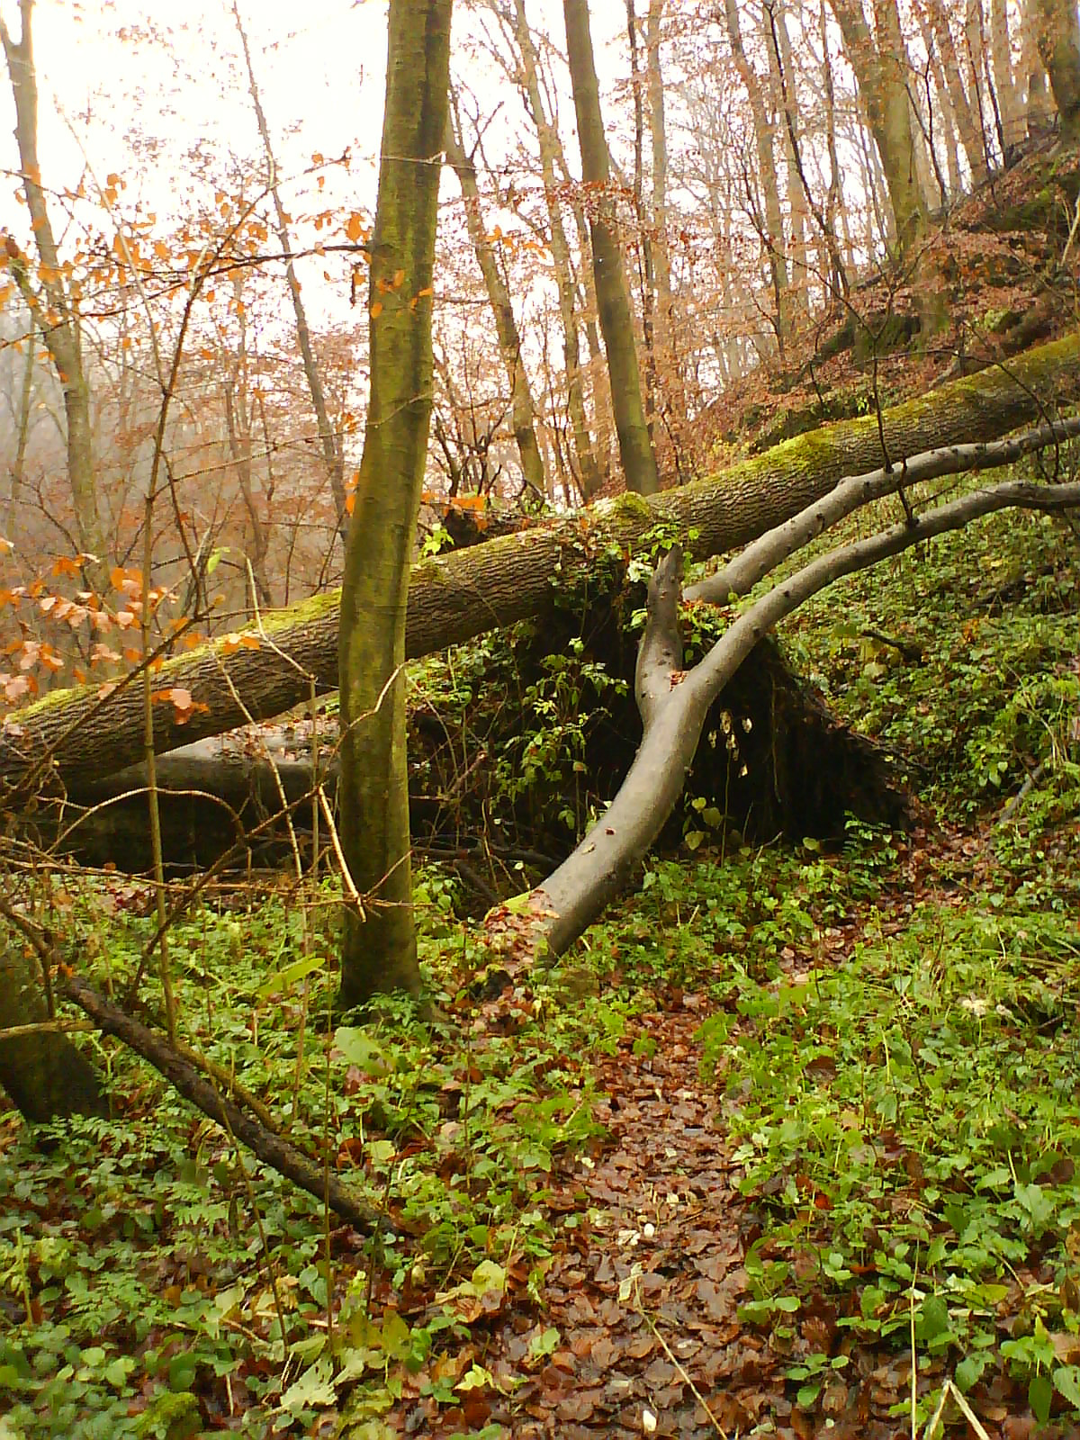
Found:
[(575, 458), (577, 462), (577, 480), (582, 495), (589, 501), (603, 482), (600, 468), (596, 462), (596, 448), (589, 432), (589, 422), (585, 415), (585, 397), (582, 392), (582, 354), (577, 321), (577, 287), (573, 278), (570, 262), (570, 245), (566, 239), (562, 204), (559, 200), (557, 167), (562, 157), (562, 143), (559, 132), (547, 117), (540, 81), (537, 75), (536, 48), (528, 29), (524, 0), (514, 0), (514, 13), (507, 16), (507, 26), (514, 35), (517, 50), (521, 58), (521, 82), (528, 104), (528, 111), (536, 127), (537, 144), (540, 147), (540, 174), (544, 181), (544, 200), (547, 204), (547, 222), (552, 228), (552, 261), (554, 264), (554, 282), (559, 291), (559, 318), (563, 327), (563, 359), (566, 361), (566, 410), (570, 419), (570, 433), (573, 436)]

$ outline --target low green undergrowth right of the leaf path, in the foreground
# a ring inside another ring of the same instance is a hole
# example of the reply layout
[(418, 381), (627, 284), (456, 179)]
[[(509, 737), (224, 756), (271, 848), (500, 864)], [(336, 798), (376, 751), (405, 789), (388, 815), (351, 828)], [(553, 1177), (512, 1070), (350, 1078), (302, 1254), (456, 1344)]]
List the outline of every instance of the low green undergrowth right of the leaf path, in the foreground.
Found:
[(1005, 1364), (1040, 1418), (1080, 1408), (1074, 914), (930, 894), (873, 909), (844, 956), (733, 965), (701, 1040), (763, 1220), (747, 1323), (913, 1326), (962, 1390)]

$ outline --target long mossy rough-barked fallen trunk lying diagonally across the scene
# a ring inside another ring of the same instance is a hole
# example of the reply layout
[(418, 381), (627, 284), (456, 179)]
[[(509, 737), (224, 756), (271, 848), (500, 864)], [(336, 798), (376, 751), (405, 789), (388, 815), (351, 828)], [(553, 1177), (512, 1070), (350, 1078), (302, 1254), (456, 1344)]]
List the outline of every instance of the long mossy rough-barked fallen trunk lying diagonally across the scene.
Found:
[[(642, 500), (622, 495), (488, 544), (415, 566), (406, 652), (431, 654), (487, 629), (544, 615), (556, 586), (588, 583), (603, 557), (622, 560), (657, 524), (685, 537), (696, 559), (734, 549), (884, 459), (992, 439), (1053, 415), (1080, 393), (1080, 334), (1020, 356), (1008, 370), (955, 380), (876, 415), (786, 441), (729, 471)], [(258, 644), (216, 641), (167, 661), (157, 691), (187, 690), (196, 708), (160, 701), (154, 747), (171, 750), (298, 704), (312, 683), (337, 685), (338, 596), (268, 616)], [(0, 733), (0, 804), (49, 786), (79, 789), (143, 756), (141, 687), (60, 691), (12, 714)], [(6, 801), (4, 801), (6, 795)]]

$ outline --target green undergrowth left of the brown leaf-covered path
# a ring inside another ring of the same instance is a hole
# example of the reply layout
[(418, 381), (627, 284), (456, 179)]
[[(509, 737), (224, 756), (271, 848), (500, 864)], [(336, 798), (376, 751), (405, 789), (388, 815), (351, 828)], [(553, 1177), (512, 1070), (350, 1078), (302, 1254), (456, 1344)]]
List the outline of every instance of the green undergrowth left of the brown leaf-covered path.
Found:
[[(118, 1117), (45, 1132), (45, 1149), (9, 1123), (6, 1440), (308, 1434), (346, 1395), (350, 1433), (377, 1437), (402, 1377), (461, 1348), (462, 1308), (539, 1292), (575, 1224), (549, 1211), (549, 1172), (596, 1133), (588, 1012), (537, 975), (482, 1024), (487, 956), (454, 922), (445, 880), (422, 877), (418, 899), (435, 1020), (403, 999), (328, 1018), (330, 894), (307, 955), (298, 910), (275, 899), (200, 910), (171, 943), (183, 1038), (386, 1207), (396, 1236), (327, 1221), (111, 1043), (95, 1048)], [(92, 978), (118, 996), (153, 933), (127, 909), (144, 901), (122, 883), (68, 916), (92, 926)]]

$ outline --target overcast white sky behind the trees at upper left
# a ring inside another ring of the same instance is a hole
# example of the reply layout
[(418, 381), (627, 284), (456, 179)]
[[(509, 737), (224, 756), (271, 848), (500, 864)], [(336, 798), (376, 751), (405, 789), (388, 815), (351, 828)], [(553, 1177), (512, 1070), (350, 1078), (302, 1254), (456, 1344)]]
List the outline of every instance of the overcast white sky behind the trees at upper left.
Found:
[[(517, 124), (516, 94), (469, 45), (471, 9), (462, 0), (455, 6), (455, 75), (485, 107), (501, 98), (500, 85), (507, 89), (501, 114)], [(374, 206), (386, 12), (386, 0), (240, 0), (289, 209), (305, 209), (297, 190), (315, 204), (314, 183), (304, 176), (312, 154), (330, 158), (346, 150), (348, 173), (327, 171), (318, 203), (346, 215)], [(16, 0), (0, 0), (0, 13), (17, 33)], [(598, 65), (615, 79), (626, 68), (625, 0), (593, 0), (592, 17)], [(530, 0), (530, 19), (562, 40), (559, 0)], [(127, 181), (121, 213), (141, 200), (167, 228), (199, 202), (193, 153), (210, 170), (217, 161), (219, 174), (229, 154), (249, 158), (264, 173), (230, 0), (36, 0), (33, 37), (46, 186), (73, 187), (89, 167), (94, 193), (95, 183), (120, 174)], [(572, 115), (569, 99), (564, 114)], [(26, 212), (13, 200), (19, 164), (13, 127), (10, 86), (0, 68), (0, 167), (7, 171), (6, 183), (0, 179), (0, 228), (26, 239)], [(490, 158), (497, 158), (498, 143), (497, 132), (485, 137)], [(576, 167), (573, 144), (567, 157)], [(445, 183), (445, 193), (456, 196), (452, 177)], [(60, 222), (55, 213), (58, 229)], [(86, 223), (108, 229), (99, 210)], [(315, 310), (336, 308), (341, 297), (320, 295), (321, 278), (310, 278)]]

